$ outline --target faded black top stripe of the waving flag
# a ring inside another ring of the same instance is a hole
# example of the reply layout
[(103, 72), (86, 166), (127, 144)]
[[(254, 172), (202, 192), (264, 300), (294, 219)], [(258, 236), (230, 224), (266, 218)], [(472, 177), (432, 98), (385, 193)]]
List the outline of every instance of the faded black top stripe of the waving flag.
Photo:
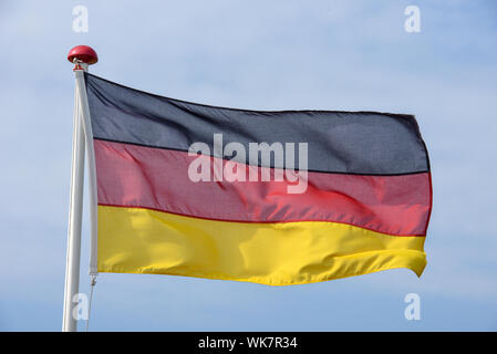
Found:
[(95, 138), (182, 152), (204, 142), (213, 150), (213, 135), (221, 133), (224, 145), (238, 142), (247, 153), (251, 142), (308, 143), (312, 171), (372, 176), (429, 171), (412, 115), (215, 107), (148, 94), (91, 74), (85, 79)]

